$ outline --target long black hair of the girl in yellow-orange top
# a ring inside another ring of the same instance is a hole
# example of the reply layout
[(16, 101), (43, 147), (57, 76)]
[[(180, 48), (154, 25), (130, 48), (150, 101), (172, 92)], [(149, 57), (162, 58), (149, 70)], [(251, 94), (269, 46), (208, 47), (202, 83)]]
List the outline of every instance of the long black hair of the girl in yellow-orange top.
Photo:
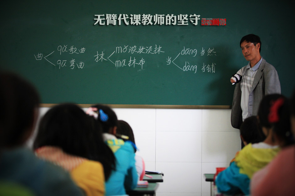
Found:
[(115, 169), (115, 156), (104, 143), (101, 128), (75, 104), (60, 104), (47, 111), (39, 124), (34, 149), (56, 146), (65, 153), (102, 163), (105, 179)]

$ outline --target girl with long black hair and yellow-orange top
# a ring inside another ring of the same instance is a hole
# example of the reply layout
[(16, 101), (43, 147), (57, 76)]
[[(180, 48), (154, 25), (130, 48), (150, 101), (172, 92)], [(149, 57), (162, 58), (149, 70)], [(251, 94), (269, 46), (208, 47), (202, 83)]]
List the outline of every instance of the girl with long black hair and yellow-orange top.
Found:
[[(86, 195), (104, 195), (104, 168), (98, 161), (115, 159), (99, 129), (94, 131), (93, 119), (77, 105), (61, 104), (48, 110), (40, 121), (34, 149), (38, 157), (69, 171)], [(106, 178), (111, 172), (108, 165), (104, 164)]]

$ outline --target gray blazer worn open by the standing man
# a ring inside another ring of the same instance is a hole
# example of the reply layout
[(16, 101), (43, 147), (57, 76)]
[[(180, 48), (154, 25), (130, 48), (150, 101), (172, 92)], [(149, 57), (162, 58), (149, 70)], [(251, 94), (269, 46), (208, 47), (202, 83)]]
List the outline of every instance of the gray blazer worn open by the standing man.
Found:
[[(243, 74), (246, 67), (247, 66), (242, 68)], [(273, 93), (281, 94), (281, 84), (279, 76), (276, 72), (276, 68), (274, 68), (271, 64), (267, 63), (265, 59), (262, 59), (262, 62), (259, 68), (257, 69), (257, 73), (255, 74), (255, 78), (250, 90), (250, 95), (252, 94), (254, 98), (252, 115), (257, 115), (261, 99), (265, 95)], [(237, 83), (236, 87), (234, 88), (233, 105), (231, 113), (231, 124), (233, 128), (240, 128), (241, 124), (243, 123), (241, 96), (241, 83)]]

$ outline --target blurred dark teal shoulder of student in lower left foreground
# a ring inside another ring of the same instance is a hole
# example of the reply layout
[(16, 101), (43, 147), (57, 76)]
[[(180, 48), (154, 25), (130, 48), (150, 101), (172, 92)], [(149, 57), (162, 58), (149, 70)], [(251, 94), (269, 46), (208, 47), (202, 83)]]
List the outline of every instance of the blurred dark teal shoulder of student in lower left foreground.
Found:
[(11, 174), (8, 178), (26, 184), (37, 195), (82, 195), (69, 173), (37, 158), (29, 149), (14, 149), (3, 153), (3, 156), (6, 162), (13, 161), (10, 165), (6, 164), (7, 172)]

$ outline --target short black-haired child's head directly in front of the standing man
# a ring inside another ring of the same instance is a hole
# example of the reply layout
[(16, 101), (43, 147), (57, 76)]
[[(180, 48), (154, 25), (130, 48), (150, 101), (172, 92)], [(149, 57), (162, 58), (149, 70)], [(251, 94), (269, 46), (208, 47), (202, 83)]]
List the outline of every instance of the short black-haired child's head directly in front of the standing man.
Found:
[(262, 133), (256, 116), (250, 116), (244, 120), (240, 127), (240, 134), (247, 144), (265, 140), (265, 135)]

